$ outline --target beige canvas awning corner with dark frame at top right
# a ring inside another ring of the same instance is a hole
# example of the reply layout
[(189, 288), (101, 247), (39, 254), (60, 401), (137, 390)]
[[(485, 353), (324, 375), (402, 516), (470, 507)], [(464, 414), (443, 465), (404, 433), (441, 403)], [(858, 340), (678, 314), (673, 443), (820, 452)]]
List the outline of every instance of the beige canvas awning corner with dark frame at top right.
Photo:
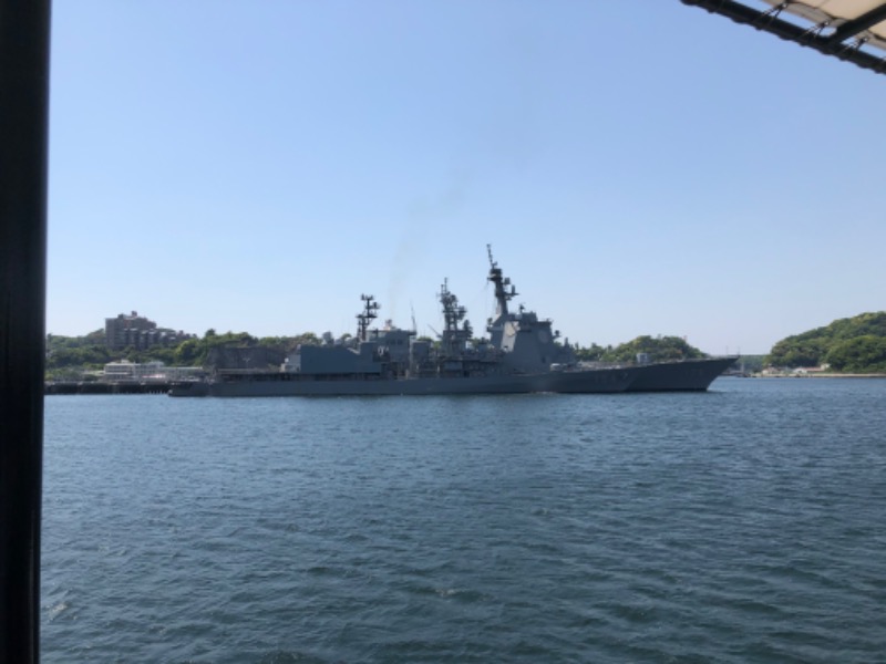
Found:
[(886, 74), (886, 0), (681, 1)]

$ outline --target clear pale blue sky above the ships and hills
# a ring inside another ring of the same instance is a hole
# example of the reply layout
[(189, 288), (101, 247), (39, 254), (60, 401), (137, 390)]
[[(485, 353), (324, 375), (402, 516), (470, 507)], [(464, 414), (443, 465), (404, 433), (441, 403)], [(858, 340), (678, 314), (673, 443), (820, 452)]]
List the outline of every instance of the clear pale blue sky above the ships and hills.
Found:
[(886, 77), (667, 2), (59, 0), (47, 330), (481, 330), (721, 354), (884, 307)]

